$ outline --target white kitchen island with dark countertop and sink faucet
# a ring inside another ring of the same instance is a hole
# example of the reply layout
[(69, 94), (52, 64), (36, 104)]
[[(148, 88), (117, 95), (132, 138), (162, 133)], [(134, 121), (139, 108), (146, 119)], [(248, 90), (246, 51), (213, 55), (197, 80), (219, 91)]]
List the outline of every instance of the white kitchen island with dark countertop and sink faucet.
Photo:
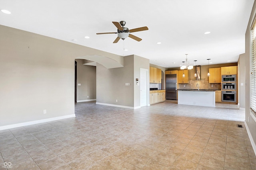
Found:
[(215, 107), (215, 90), (179, 89), (178, 104)]

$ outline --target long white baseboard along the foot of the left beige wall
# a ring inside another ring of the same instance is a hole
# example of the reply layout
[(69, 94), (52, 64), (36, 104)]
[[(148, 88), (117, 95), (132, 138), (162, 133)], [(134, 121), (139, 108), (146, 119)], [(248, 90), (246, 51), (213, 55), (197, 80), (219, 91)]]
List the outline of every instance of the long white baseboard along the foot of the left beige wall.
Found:
[(66, 116), (52, 117), (52, 118), (48, 118), (48, 119), (41, 119), (41, 120), (35, 120), (35, 121), (27, 121), (27, 122), (24, 122), (24, 123), (17, 123), (17, 124), (12, 124), (12, 125), (0, 126), (0, 131), (5, 130), (5, 129), (12, 129), (12, 128), (15, 128), (15, 127), (34, 125), (34, 124), (37, 124), (37, 123), (45, 123), (45, 122), (48, 122), (48, 121), (55, 121), (55, 120), (60, 120), (60, 119), (66, 119), (66, 118), (70, 118), (70, 117), (76, 117), (76, 115), (72, 114), (72, 115), (66, 115)]

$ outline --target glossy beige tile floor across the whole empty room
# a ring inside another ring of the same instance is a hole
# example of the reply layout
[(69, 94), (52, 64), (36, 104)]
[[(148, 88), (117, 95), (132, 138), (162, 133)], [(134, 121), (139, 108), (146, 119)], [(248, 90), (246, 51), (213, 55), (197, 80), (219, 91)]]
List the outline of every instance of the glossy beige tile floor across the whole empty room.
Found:
[(133, 110), (83, 102), (75, 109), (75, 118), (0, 131), (0, 170), (256, 169), (235, 105)]

